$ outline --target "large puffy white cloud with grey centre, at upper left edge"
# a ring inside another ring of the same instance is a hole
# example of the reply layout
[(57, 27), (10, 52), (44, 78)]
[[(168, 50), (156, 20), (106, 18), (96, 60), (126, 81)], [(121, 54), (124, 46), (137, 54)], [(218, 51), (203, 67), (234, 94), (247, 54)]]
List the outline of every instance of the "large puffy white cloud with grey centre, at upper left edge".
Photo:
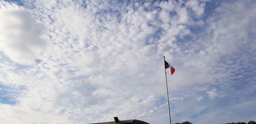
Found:
[(46, 50), (44, 25), (31, 12), (13, 3), (0, 2), (0, 51), (13, 61), (29, 65)]

